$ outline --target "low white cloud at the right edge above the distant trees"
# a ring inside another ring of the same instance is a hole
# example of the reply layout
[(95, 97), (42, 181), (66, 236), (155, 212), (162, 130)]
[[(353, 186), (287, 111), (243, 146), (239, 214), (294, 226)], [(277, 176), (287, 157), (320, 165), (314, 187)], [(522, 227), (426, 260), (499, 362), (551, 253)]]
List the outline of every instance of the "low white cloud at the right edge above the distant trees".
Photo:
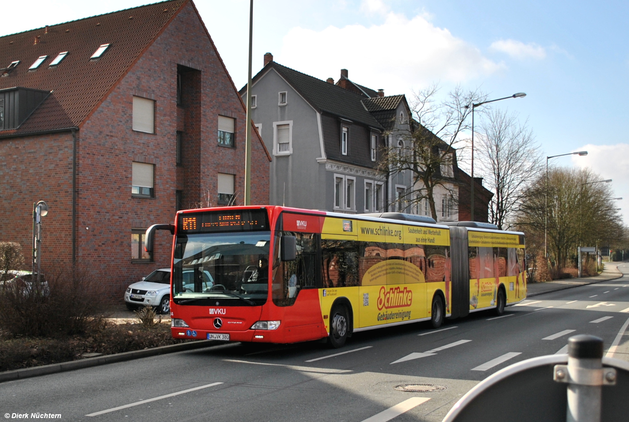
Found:
[(625, 224), (629, 223), (629, 143), (616, 145), (584, 145), (577, 151), (587, 151), (587, 155), (579, 157), (572, 155), (572, 163), (579, 167), (590, 167), (603, 179), (613, 179), (611, 189), (616, 197), (623, 197), (617, 201), (618, 208)]

